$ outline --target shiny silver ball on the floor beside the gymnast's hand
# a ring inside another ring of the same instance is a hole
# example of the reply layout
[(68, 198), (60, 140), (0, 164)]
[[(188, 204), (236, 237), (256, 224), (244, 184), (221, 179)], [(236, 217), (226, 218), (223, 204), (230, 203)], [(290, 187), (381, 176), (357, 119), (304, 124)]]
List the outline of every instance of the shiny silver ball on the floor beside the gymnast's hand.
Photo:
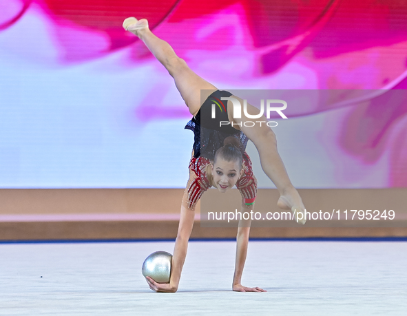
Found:
[(157, 283), (169, 283), (171, 261), (171, 253), (156, 251), (144, 260), (141, 273), (145, 277), (151, 277)]

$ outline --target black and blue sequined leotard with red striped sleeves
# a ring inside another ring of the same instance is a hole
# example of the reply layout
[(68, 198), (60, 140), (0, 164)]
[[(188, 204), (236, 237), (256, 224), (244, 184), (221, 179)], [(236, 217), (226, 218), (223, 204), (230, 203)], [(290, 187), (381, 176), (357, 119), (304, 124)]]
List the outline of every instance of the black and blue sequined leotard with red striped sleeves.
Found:
[[(194, 131), (194, 156), (191, 157), (189, 162), (189, 169), (194, 171), (196, 178), (187, 188), (189, 208), (195, 207), (202, 194), (211, 187), (207, 178), (206, 167), (211, 163), (216, 151), (223, 146), (223, 141), (228, 136), (234, 136), (240, 140), (239, 149), (242, 151), (244, 173), (236, 183), (236, 187), (242, 195), (242, 203), (246, 205), (254, 204), (257, 193), (257, 180), (253, 175), (250, 157), (245, 151), (248, 138), (242, 131), (231, 127), (231, 125), (222, 125), (220, 127), (219, 124), (220, 121), (229, 121), (227, 101), (221, 100), (222, 97), (229, 96), (231, 96), (231, 93), (227, 91), (217, 90), (213, 92), (202, 104), (198, 114), (185, 126), (186, 129)], [(215, 107), (215, 119), (211, 118), (212, 104), (218, 105)]]

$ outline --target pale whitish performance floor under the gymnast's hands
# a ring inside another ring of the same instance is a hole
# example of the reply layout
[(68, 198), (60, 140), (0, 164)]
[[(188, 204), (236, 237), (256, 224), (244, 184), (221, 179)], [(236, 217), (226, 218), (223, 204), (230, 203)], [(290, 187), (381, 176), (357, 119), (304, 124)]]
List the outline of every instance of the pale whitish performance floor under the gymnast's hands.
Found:
[[(173, 242), (0, 244), (0, 315), (406, 315), (407, 242), (190, 242), (178, 293), (140, 268)], [(42, 277), (41, 277), (42, 276)]]

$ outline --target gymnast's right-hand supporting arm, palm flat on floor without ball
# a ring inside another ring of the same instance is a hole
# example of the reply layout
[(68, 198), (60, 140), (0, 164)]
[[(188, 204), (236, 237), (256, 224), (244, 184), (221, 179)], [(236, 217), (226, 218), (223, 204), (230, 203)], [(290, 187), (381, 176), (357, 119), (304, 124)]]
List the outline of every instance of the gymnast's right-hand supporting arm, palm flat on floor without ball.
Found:
[[(254, 204), (247, 206), (244, 204), (244, 199), (242, 198), (242, 215), (244, 212), (250, 213), (253, 210)], [(233, 291), (238, 292), (267, 292), (262, 288), (248, 288), (247, 286), (242, 286), (242, 273), (244, 268), (244, 262), (246, 261), (247, 246), (249, 244), (249, 233), (250, 233), (251, 220), (239, 220), (238, 235), (236, 237), (236, 265), (235, 273), (233, 275)]]

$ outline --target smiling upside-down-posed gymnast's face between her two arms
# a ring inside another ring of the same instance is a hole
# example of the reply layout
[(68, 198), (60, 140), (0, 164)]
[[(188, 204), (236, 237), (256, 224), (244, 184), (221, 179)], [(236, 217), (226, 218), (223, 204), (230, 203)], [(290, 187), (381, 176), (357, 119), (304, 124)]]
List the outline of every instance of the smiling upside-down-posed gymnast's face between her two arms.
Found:
[(242, 174), (242, 165), (238, 161), (227, 161), (221, 157), (212, 164), (213, 185), (221, 192), (233, 188)]

